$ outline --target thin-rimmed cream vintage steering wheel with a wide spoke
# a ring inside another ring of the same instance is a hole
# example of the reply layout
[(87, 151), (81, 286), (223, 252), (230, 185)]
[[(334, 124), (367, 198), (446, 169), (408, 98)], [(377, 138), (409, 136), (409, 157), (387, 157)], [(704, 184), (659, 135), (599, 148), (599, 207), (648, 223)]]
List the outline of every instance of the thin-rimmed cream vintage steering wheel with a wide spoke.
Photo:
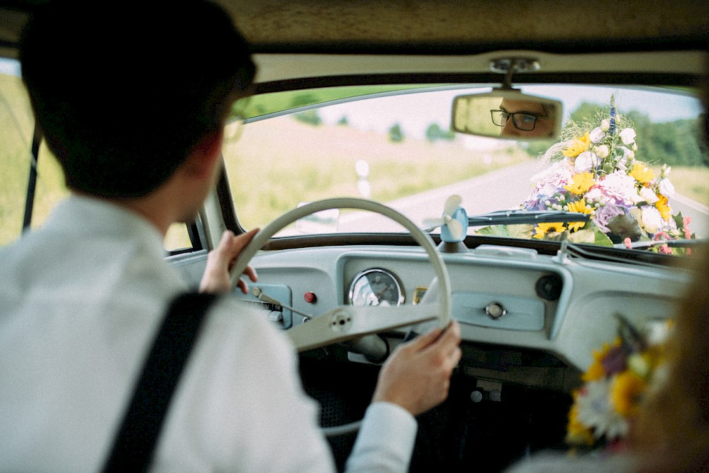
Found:
[(436, 250), (428, 234), (391, 207), (372, 200), (357, 198), (335, 198), (318, 200), (286, 212), (258, 232), (240, 253), (231, 270), (231, 286), (235, 287), (247, 264), (257, 251), (262, 249), (274, 234), (298, 219), (315, 212), (330, 209), (357, 209), (376, 212), (401, 224), (415, 241), (423, 246), (438, 278), (438, 304), (405, 305), (399, 307), (341, 305), (307, 323), (299, 324), (286, 331), (298, 351), (311, 350), (321, 346), (351, 340), (382, 331), (398, 329), (402, 326), (420, 324), (437, 319), (441, 329), (450, 322), (450, 280), (443, 258)]

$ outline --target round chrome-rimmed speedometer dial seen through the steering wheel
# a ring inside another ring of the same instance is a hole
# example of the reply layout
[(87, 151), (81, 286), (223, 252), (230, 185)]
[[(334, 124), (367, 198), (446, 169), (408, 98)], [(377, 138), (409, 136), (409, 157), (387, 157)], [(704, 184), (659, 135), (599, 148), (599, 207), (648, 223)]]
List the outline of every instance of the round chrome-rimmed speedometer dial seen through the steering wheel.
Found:
[(372, 268), (359, 273), (350, 285), (351, 305), (389, 305), (403, 304), (404, 295), (401, 283), (393, 273)]

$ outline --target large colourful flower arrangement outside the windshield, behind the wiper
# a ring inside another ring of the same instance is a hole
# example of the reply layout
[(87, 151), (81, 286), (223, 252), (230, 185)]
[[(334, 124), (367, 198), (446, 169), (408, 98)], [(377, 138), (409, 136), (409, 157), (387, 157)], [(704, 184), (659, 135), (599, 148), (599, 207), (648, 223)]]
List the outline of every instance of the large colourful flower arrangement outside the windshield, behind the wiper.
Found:
[(659, 164), (652, 169), (636, 153), (635, 129), (618, 113), (613, 97), (608, 112), (569, 122), (562, 140), (545, 153), (549, 169), (532, 178), (532, 192), (521, 207), (581, 212), (590, 220), (540, 223), (530, 236), (628, 248), (636, 241), (657, 241), (655, 251), (677, 251), (662, 242), (693, 235), (689, 219), (673, 215), (669, 205), (671, 169)]

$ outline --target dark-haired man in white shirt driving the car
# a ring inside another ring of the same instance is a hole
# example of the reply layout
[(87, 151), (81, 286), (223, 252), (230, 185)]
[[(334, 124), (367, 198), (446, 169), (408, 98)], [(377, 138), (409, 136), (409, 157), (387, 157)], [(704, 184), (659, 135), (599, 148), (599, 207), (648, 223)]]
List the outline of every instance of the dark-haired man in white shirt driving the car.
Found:
[[(50, 4), (23, 33), (23, 80), (72, 195), (0, 251), (3, 471), (101, 469), (167, 306), (189, 290), (162, 240), (173, 222), (194, 220), (213, 188), (223, 125), (255, 66), (220, 8), (169, 8)], [(223, 235), (201, 290), (230, 290), (230, 263), (254, 234)], [(453, 322), (392, 353), (348, 469), (408, 469), (414, 416), (447, 397), (459, 341)], [(286, 338), (222, 297), (150, 469), (333, 471), (317, 411)]]

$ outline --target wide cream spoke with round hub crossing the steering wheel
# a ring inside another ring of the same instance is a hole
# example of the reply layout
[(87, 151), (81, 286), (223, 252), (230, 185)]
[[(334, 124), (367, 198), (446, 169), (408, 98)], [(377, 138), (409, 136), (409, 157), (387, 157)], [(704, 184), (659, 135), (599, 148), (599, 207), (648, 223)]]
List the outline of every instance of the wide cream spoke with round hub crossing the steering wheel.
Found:
[(436, 304), (399, 307), (343, 305), (286, 332), (298, 351), (419, 324), (440, 317)]

